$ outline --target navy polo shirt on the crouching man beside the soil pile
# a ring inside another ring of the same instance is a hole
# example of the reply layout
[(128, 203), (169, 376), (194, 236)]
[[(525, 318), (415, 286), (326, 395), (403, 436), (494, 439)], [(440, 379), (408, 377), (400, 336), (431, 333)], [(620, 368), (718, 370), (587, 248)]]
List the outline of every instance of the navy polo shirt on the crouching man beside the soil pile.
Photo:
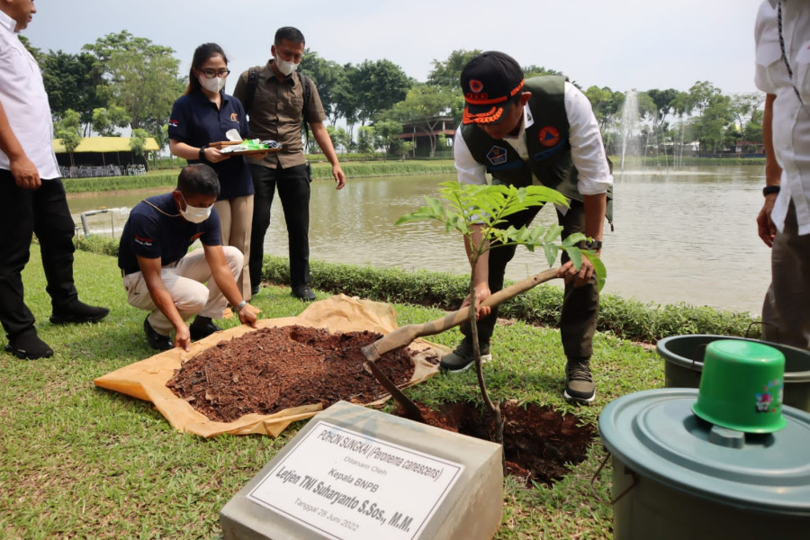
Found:
[(121, 233), (118, 267), (124, 274), (140, 272), (136, 256), (160, 257), (160, 265), (179, 261), (197, 238), (206, 246), (220, 246), (220, 214), (211, 209), (211, 217), (202, 223), (186, 221), (177, 210), (172, 193), (155, 195), (139, 202)]

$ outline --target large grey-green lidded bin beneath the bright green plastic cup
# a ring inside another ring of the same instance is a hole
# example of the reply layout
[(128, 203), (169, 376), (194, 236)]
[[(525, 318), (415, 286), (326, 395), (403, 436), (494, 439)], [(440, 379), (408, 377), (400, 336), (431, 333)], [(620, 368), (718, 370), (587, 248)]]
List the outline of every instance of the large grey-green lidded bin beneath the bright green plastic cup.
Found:
[(810, 538), (810, 414), (751, 434), (698, 418), (694, 389), (635, 392), (599, 415), (615, 540)]

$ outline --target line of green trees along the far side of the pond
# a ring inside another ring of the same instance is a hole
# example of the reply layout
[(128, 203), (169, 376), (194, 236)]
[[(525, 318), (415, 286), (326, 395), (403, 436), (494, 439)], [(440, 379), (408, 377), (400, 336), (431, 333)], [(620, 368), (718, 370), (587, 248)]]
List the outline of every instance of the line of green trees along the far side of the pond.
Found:
[[(147, 137), (166, 147), (169, 113), (187, 84), (173, 49), (128, 31), (107, 34), (76, 54), (43, 52), (21, 39), (40, 63), (56, 136), (71, 156), (82, 138), (118, 136), (126, 128), (132, 131), (136, 152), (141, 148), (142, 154)], [(383, 156), (409, 154), (414, 152), (413, 143), (399, 137), (407, 125), (410, 130), (432, 133), (421, 155), (434, 157), (446, 145), (446, 136), (436, 132), (440, 122), (449, 121), (455, 129), (461, 120), (462, 68), (480, 52), (459, 49), (445, 60), (434, 60), (425, 82), (406, 75), (387, 59), (341, 65), (310, 49), (305, 50), (299, 69), (318, 87), (336, 148), (364, 154), (383, 149)], [(524, 71), (527, 77), (564, 76), (535, 65)], [(663, 148), (664, 152), (668, 147), (680, 146), (682, 151), (688, 146), (690, 152), (716, 154), (734, 147), (756, 151), (761, 146), (764, 94), (726, 95), (707, 81), (698, 81), (687, 91), (628, 93), (594, 85), (583, 92), (611, 154), (621, 151), (618, 145), (626, 144), (628, 138), (635, 139), (636, 148)], [(626, 117), (631, 95), (637, 102), (635, 127)]]

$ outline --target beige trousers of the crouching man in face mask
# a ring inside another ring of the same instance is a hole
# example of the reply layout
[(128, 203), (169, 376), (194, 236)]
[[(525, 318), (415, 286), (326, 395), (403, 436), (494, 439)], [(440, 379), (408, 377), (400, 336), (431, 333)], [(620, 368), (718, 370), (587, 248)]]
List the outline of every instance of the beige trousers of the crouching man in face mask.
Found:
[[(236, 279), (242, 271), (245, 259), (236, 247), (223, 246), (222, 250), (225, 252), (225, 262)], [(160, 277), (183, 320), (189, 320), (198, 314), (211, 319), (222, 318), (228, 301), (211, 279), (211, 267), (205, 260), (202, 248), (194, 249), (179, 261), (164, 266)], [(205, 285), (206, 282), (208, 285)], [(175, 328), (152, 301), (143, 275), (140, 272), (124, 275), (123, 284), (127, 291), (127, 302), (133, 307), (151, 311), (148, 315), (149, 324), (158, 334), (171, 334)]]

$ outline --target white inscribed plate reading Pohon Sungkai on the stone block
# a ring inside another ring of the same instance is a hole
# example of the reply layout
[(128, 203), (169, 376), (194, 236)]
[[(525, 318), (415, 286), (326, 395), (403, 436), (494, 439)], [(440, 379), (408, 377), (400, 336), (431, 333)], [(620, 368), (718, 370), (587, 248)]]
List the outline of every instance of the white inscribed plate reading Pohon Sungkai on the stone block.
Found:
[(327, 538), (415, 538), (464, 465), (318, 421), (247, 495)]

